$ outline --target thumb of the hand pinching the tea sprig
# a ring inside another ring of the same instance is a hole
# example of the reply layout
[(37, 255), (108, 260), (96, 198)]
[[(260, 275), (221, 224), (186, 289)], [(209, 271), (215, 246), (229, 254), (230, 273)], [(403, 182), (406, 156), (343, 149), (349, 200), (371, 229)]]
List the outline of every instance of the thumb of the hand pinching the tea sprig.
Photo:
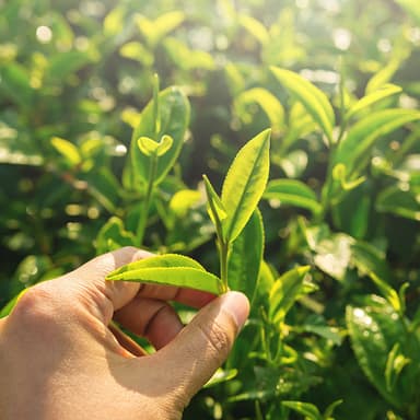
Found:
[(228, 358), (248, 314), (247, 298), (240, 292), (228, 292), (205, 306), (156, 353), (162, 371), (171, 372), (173, 389), (184, 405)]

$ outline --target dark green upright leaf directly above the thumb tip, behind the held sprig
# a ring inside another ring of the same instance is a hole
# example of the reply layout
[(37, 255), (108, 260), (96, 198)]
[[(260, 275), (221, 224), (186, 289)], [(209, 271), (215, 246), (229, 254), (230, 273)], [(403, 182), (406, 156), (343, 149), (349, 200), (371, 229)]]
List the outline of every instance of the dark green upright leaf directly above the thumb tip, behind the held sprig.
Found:
[(232, 244), (228, 259), (229, 285), (253, 302), (264, 252), (262, 218), (256, 209)]

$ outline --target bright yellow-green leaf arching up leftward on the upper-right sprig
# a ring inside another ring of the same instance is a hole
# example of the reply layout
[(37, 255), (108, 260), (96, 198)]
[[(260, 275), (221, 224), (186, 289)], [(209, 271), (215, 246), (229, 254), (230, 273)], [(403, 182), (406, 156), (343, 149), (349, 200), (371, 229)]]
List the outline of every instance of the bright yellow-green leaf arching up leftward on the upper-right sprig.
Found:
[(271, 67), (270, 69), (277, 80), (279, 80), (279, 82), (303, 104), (307, 113), (311, 114), (314, 120), (323, 129), (329, 142), (332, 143), (335, 116), (331, 104), (325, 93), (293, 71), (276, 67)]

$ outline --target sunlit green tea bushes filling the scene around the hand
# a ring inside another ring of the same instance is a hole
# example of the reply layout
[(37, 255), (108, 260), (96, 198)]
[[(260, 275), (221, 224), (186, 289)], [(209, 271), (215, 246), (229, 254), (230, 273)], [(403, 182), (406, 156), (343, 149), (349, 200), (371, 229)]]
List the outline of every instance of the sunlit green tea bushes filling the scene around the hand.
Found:
[(419, 59), (415, 0), (0, 0), (3, 315), (142, 246), (252, 300), (186, 419), (418, 419)]

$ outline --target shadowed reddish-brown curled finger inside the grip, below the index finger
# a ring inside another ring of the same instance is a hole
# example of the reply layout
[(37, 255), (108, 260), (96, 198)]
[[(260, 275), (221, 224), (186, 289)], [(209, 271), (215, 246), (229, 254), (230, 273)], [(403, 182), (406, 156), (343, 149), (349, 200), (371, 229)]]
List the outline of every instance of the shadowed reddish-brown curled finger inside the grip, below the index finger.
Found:
[(114, 318), (138, 336), (145, 337), (159, 350), (183, 329), (174, 308), (166, 302), (137, 296)]

